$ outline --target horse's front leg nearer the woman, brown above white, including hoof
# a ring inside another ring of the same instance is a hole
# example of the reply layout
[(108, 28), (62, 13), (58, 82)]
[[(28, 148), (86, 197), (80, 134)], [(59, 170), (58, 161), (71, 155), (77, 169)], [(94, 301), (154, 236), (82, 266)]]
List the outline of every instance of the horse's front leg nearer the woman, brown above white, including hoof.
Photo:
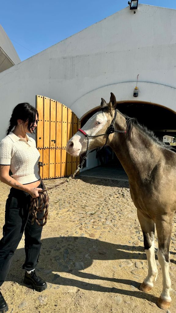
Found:
[(148, 275), (139, 289), (144, 292), (149, 292), (153, 288), (153, 280), (156, 281), (158, 275), (154, 251), (155, 224), (149, 216), (144, 215), (140, 210), (137, 210), (137, 216), (142, 228), (144, 249), (148, 260)]

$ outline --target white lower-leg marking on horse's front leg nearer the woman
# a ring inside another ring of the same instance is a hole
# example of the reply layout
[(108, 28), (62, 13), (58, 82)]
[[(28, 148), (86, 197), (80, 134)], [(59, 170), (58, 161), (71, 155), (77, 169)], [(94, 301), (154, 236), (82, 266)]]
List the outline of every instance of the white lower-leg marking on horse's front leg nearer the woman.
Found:
[(145, 253), (147, 254), (147, 261), (148, 261), (148, 275), (144, 279), (144, 283), (146, 285), (149, 285), (153, 287), (153, 280), (157, 280), (157, 275), (158, 275), (158, 269), (157, 269), (157, 264), (155, 260), (155, 251), (154, 251), (154, 238), (152, 241), (152, 246), (145, 250)]

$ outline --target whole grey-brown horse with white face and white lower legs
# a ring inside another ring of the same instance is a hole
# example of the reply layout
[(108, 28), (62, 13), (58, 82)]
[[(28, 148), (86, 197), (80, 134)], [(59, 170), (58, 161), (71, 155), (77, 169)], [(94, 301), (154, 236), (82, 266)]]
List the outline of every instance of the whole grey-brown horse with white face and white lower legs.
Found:
[(157, 279), (154, 250), (156, 225), (157, 255), (163, 275), (163, 289), (157, 304), (161, 309), (168, 309), (171, 303), (169, 245), (176, 212), (176, 153), (135, 118), (122, 114), (116, 106), (113, 93), (108, 104), (101, 98), (100, 110), (70, 138), (66, 151), (77, 157), (85, 151), (87, 154), (88, 149), (108, 145), (116, 153), (129, 179), (130, 194), (137, 208), (148, 260), (148, 275), (139, 289), (149, 292)]

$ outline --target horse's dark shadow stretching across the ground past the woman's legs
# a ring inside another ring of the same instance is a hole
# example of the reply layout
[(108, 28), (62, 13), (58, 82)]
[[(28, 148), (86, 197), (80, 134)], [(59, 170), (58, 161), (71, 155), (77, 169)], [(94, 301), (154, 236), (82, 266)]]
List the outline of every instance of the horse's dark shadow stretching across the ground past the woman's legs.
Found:
[[(19, 275), (19, 270), (16, 271), (16, 269), (17, 264), (19, 268), (21, 267), (24, 257), (24, 249), (17, 249), (13, 257), (7, 280), (13, 280), (18, 282), (18, 284), (23, 285), (23, 273), (22, 275)], [(148, 299), (149, 301), (156, 303), (157, 298), (155, 296), (148, 295), (140, 290), (137, 290), (140, 285), (138, 282), (126, 279), (125, 277), (114, 278), (111, 275), (111, 269), (109, 269), (109, 276), (111, 277), (102, 277), (80, 271), (81, 269), (90, 267), (93, 260), (122, 260), (121, 264), (123, 264), (124, 260), (129, 259), (146, 259), (144, 248), (141, 246), (135, 247), (129, 245), (111, 244), (105, 241), (99, 241), (86, 237), (47, 238), (42, 240), (41, 254), (36, 269), (39, 275), (51, 284), (75, 286), (79, 289), (99, 292), (118, 293)], [(128, 269), (130, 271), (130, 268)], [(116, 268), (114, 267), (114, 272), (115, 271)], [(60, 275), (61, 272), (71, 273), (72, 275), (86, 280), (112, 281), (114, 282), (114, 287), (104, 287), (96, 283), (94, 284), (92, 281), (85, 282), (73, 278), (65, 278)], [(117, 284), (132, 285), (130, 286), (130, 289), (133, 290), (118, 288)]]

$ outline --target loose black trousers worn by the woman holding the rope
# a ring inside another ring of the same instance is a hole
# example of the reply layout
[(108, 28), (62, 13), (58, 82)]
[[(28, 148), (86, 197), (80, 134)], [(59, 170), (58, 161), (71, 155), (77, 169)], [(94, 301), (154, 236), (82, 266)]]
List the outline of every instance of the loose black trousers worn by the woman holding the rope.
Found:
[[(42, 183), (40, 183), (38, 188), (43, 188)], [(0, 286), (6, 279), (11, 259), (23, 233), (25, 235), (24, 248), (26, 259), (22, 268), (32, 270), (38, 262), (42, 227), (36, 221), (31, 225), (32, 215), (29, 215), (29, 206), (30, 195), (28, 192), (12, 187), (6, 201), (3, 238), (0, 240)], [(44, 212), (37, 213), (37, 217), (42, 218), (43, 214)], [(43, 221), (40, 223), (43, 223)]]

